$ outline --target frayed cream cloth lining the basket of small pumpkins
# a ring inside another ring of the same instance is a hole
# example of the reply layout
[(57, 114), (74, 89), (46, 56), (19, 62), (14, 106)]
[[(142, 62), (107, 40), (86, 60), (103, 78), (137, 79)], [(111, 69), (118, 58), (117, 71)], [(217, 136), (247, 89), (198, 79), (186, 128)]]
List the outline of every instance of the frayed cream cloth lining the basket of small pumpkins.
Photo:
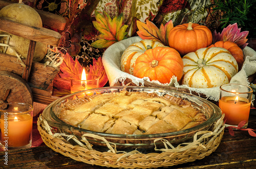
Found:
[[(155, 80), (150, 81), (148, 77), (137, 78), (131, 74), (121, 71), (120, 62), (121, 62), (121, 56), (123, 51), (132, 43), (139, 42), (141, 40), (142, 39), (140, 37), (128, 38), (128, 39), (119, 41), (117, 43), (114, 43), (113, 45), (111, 45), (105, 50), (102, 57), (102, 63), (105, 68), (106, 74), (108, 75), (110, 86), (115, 86), (118, 81), (123, 83), (126, 78), (129, 78), (137, 86), (139, 85), (144, 86), (144, 80), (145, 80), (152, 83), (157, 83), (159, 85), (175, 86), (177, 89), (186, 88), (186, 89), (189, 89), (189, 91), (195, 91), (199, 94), (200, 93), (204, 94), (207, 99), (211, 99), (215, 101), (219, 100), (219, 94), (220, 94), (219, 87), (207, 88), (207, 89), (190, 88), (186, 85), (179, 85), (176, 77), (172, 78), (169, 84), (162, 84), (159, 81), (155, 81)], [(239, 83), (242, 85), (249, 85), (247, 77), (256, 72), (256, 51), (246, 46), (243, 49), (243, 53), (244, 53), (244, 59), (245, 59), (243, 67), (236, 75), (234, 75), (231, 78), (230, 83)]]

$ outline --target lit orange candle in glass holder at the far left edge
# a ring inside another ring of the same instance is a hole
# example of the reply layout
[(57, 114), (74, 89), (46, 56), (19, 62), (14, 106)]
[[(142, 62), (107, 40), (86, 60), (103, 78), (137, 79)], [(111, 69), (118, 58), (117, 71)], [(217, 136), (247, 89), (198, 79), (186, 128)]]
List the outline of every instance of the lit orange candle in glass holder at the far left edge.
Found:
[(28, 103), (0, 105), (0, 146), (4, 151), (32, 145), (33, 106)]

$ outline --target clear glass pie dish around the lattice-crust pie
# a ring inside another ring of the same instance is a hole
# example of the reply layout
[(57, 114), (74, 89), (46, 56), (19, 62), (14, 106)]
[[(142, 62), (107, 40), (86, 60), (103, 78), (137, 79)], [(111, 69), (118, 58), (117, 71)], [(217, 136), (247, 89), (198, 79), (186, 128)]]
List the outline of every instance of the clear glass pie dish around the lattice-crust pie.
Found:
[[(188, 129), (176, 131), (176, 132), (169, 132), (169, 133), (159, 133), (159, 134), (110, 134), (110, 133), (103, 133), (103, 132), (95, 132), (86, 130), (83, 128), (79, 128), (76, 126), (72, 126), (66, 122), (63, 122), (58, 118), (58, 114), (65, 105), (65, 103), (69, 102), (70, 100), (77, 100), (85, 95), (95, 95), (95, 94), (103, 94), (103, 93), (113, 93), (113, 92), (121, 92), (121, 91), (128, 91), (128, 92), (146, 92), (146, 93), (155, 93), (159, 96), (164, 96), (166, 94), (182, 98), (183, 100), (187, 100), (199, 109), (203, 114), (206, 116), (206, 121), (202, 124), (199, 124), (195, 127), (191, 127)], [(111, 146), (116, 146), (117, 150), (145, 150), (150, 151), (155, 146), (162, 146), (162, 142), (155, 142), (156, 139), (165, 139), (168, 140), (169, 143), (176, 145), (183, 142), (188, 141), (191, 139), (195, 133), (198, 131), (208, 130), (212, 124), (214, 124), (218, 119), (221, 118), (221, 109), (215, 105), (214, 103), (200, 98), (195, 95), (191, 95), (184, 92), (179, 92), (175, 90), (165, 90), (159, 88), (151, 88), (151, 87), (136, 87), (136, 86), (127, 86), (127, 87), (105, 87), (105, 88), (97, 88), (97, 89), (90, 89), (86, 91), (81, 91), (77, 93), (70, 94), (68, 96), (59, 98), (49, 104), (44, 111), (42, 112), (42, 118), (45, 119), (49, 126), (55, 129), (55, 132), (65, 133), (68, 135), (75, 135), (78, 139), (82, 138), (83, 134), (93, 134), (97, 136), (101, 136), (106, 139), (108, 142), (111, 142)], [(90, 144), (93, 145), (95, 150), (105, 151), (109, 150), (106, 147), (105, 142), (102, 139), (98, 139), (97, 137), (87, 137), (87, 140)], [(72, 143), (73, 144), (73, 143)]]

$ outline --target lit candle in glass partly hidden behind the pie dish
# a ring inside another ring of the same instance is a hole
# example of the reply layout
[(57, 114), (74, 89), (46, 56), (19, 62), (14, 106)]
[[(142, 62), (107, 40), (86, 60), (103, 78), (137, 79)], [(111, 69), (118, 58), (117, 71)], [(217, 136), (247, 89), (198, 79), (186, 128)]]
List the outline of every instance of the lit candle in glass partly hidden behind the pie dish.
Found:
[(71, 77), (70, 93), (76, 93), (88, 89), (99, 88), (99, 76), (91, 73), (86, 74), (86, 80), (82, 79), (82, 73)]

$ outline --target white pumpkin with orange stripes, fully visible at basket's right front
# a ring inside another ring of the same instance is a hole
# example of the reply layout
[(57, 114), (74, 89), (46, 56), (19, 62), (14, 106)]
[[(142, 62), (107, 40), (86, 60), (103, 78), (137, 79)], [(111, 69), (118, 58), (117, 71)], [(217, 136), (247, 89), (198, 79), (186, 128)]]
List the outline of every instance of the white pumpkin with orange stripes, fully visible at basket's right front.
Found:
[(183, 58), (182, 85), (192, 88), (213, 88), (229, 83), (237, 74), (236, 59), (221, 47), (201, 48)]

